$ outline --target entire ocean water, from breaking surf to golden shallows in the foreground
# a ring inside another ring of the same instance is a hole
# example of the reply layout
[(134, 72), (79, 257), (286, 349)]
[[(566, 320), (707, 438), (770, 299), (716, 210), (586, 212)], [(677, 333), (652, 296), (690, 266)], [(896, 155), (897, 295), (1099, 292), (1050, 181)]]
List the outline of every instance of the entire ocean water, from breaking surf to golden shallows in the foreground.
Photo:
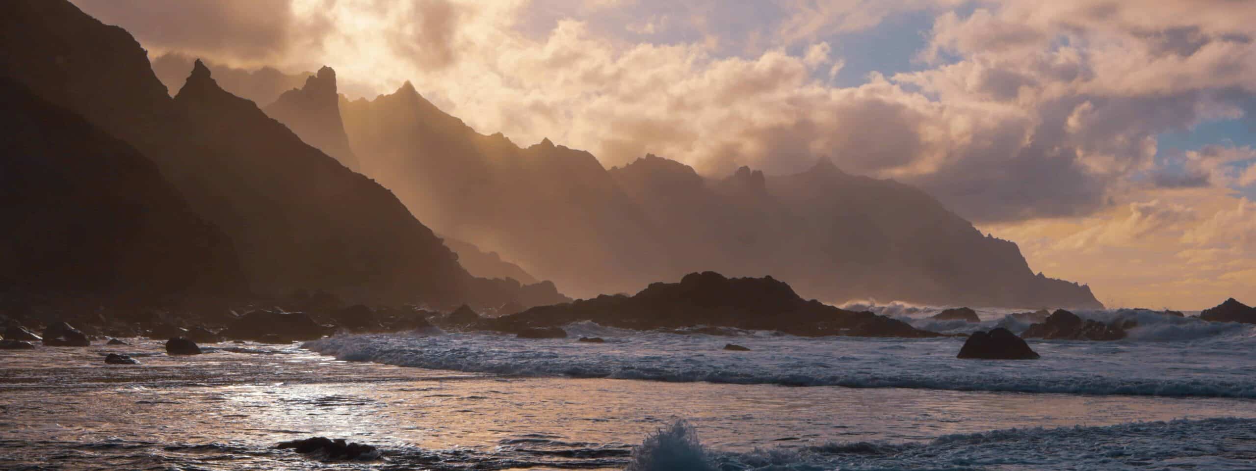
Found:
[[(1027, 327), (927, 319), (923, 329)], [(1251, 470), (1256, 325), (1156, 313), (1118, 342), (798, 338), (568, 325), (568, 339), (425, 330), (305, 344), (0, 350), (4, 470)], [(605, 343), (582, 343), (600, 337)], [(726, 343), (749, 352), (723, 350)], [(126, 353), (139, 365), (107, 365)], [(379, 447), (322, 462), (280, 441)]]

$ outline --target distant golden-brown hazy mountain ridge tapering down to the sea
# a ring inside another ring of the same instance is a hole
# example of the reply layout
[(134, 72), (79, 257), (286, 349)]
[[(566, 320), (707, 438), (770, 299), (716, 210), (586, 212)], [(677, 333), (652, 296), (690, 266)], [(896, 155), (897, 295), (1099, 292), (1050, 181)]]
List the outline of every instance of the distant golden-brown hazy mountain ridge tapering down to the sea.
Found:
[(924, 192), (828, 161), (791, 176), (708, 181), (647, 156), (603, 168), (548, 139), (482, 136), (407, 83), (342, 100), (362, 171), (442, 234), (590, 296), (716, 270), (772, 275), (810, 298), (982, 306), (1099, 306), (1089, 288), (1035, 275)]

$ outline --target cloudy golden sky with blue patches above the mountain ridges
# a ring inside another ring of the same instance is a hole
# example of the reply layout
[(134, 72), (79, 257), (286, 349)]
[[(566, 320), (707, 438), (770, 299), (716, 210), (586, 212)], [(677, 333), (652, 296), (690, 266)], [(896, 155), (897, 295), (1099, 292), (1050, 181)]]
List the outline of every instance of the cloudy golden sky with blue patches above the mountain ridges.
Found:
[(1109, 305), (1256, 301), (1256, 1), (74, 0), (484, 133), (923, 187)]

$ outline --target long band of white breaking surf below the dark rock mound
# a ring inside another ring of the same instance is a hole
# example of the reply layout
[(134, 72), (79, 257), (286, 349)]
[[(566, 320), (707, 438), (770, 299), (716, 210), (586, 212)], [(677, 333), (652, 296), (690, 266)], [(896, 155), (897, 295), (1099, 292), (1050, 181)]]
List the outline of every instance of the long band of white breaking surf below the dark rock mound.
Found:
[[(997, 313), (996, 313), (997, 314)], [(1006, 315), (1006, 314), (1004, 314)], [(924, 388), (1025, 393), (1256, 398), (1250, 325), (1140, 314), (1120, 342), (1029, 340), (1039, 360), (961, 360), (962, 338), (727, 337), (568, 327), (573, 338), (530, 340), (490, 333), (333, 337), (305, 347), (340, 359), (512, 376), (666, 382)], [(988, 329), (1007, 318), (983, 320)], [(574, 337), (602, 337), (588, 344)]]

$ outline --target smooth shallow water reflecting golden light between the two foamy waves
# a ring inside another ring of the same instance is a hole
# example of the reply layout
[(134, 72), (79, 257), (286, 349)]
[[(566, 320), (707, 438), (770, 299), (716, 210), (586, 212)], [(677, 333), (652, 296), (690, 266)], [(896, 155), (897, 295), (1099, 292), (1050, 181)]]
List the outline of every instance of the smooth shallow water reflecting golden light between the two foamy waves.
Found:
[[(1245, 399), (492, 377), (219, 347), (198, 357), (166, 357), (156, 343), (0, 352), (0, 468), (319, 468), (269, 450), (315, 435), (386, 450), (386, 461), (337, 466), (613, 468), (681, 417), (727, 451), (1256, 417)], [(143, 364), (106, 365), (107, 352)]]

